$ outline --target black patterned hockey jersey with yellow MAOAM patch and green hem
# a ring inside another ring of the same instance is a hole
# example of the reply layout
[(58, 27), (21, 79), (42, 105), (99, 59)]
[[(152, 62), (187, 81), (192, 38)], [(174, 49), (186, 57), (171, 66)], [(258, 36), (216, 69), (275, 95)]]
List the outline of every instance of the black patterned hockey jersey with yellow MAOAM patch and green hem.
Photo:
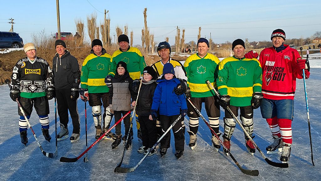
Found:
[(48, 86), (54, 86), (54, 81), (52, 70), (46, 60), (36, 57), (34, 61), (31, 61), (25, 57), (13, 67), (11, 89), (19, 89), (21, 97), (46, 96)]

